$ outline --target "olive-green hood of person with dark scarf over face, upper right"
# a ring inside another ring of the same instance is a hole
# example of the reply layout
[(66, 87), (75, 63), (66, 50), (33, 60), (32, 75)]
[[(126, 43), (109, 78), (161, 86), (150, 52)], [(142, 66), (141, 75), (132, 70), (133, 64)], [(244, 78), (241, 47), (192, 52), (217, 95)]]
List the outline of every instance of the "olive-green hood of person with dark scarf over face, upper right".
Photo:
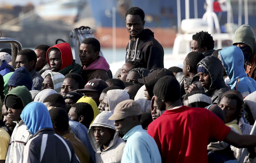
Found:
[(248, 24), (243, 24), (236, 29), (233, 45), (234, 43), (245, 43), (251, 47), (252, 55), (256, 53), (255, 35), (253, 33), (252, 27)]

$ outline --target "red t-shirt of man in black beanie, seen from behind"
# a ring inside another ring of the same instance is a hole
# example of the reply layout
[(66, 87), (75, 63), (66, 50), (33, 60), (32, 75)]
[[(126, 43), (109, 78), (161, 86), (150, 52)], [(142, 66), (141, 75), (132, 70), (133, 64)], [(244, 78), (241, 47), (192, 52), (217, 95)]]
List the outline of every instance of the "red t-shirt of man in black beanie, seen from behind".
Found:
[(222, 141), (230, 130), (209, 110), (187, 106), (165, 111), (148, 126), (166, 163), (207, 163), (209, 138)]

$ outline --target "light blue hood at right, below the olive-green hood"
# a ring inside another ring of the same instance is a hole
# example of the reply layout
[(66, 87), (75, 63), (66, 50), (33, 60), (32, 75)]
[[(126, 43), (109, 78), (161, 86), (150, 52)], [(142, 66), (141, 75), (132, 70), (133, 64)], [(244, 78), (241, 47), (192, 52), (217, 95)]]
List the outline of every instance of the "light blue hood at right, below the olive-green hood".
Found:
[(229, 46), (219, 51), (219, 57), (230, 79), (230, 82), (247, 76), (244, 70), (244, 56), (237, 46)]

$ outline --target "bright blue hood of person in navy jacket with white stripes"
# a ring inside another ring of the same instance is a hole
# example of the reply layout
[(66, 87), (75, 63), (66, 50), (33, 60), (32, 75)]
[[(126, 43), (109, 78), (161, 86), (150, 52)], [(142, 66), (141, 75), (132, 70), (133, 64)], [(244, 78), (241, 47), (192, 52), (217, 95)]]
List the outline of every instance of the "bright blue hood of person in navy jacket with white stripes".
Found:
[(41, 102), (31, 102), (22, 111), (20, 118), (24, 121), (31, 135), (43, 128), (53, 128), (47, 107)]

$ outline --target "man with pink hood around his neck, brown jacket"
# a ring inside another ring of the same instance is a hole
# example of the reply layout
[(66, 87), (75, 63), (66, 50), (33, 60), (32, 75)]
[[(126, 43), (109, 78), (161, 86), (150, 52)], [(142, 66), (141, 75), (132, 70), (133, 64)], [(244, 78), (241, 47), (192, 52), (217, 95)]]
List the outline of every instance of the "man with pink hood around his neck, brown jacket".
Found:
[(96, 38), (86, 38), (82, 41), (79, 50), (79, 58), (82, 63), (81, 76), (87, 83), (91, 79), (108, 80), (109, 65), (100, 54), (100, 42)]

